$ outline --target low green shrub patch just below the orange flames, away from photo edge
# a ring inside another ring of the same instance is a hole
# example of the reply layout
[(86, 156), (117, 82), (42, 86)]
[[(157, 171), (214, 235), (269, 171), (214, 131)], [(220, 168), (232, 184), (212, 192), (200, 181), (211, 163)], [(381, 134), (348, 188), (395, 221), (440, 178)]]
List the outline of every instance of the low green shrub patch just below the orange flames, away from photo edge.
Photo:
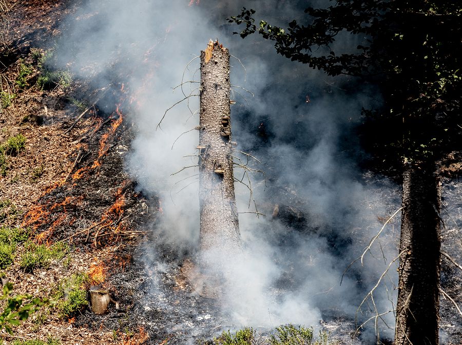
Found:
[(48, 267), (53, 259), (60, 260), (66, 255), (67, 246), (58, 242), (48, 247), (46, 245), (37, 245), (32, 241), (25, 243), (26, 252), (21, 257), (20, 267), (25, 272), (33, 272), (40, 267)]

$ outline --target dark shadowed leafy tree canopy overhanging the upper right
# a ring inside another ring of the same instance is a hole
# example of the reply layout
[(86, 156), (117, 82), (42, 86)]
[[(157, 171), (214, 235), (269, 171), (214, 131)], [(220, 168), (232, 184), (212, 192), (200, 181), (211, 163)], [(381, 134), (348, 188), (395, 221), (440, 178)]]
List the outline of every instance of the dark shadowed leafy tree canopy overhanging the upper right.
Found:
[[(325, 9), (305, 9), (300, 20), (309, 24), (294, 19), (286, 30), (265, 21), (256, 25), (254, 15), (244, 8), (229, 22), (245, 25), (242, 37), (257, 32), (273, 40), (277, 52), (292, 60), (379, 85), (384, 106), (365, 114), (371, 128), (381, 129), (372, 132), (382, 158), (425, 161), (460, 149), (462, 9), (457, 2), (337, 0)], [(354, 53), (333, 48), (345, 32), (357, 39)]]

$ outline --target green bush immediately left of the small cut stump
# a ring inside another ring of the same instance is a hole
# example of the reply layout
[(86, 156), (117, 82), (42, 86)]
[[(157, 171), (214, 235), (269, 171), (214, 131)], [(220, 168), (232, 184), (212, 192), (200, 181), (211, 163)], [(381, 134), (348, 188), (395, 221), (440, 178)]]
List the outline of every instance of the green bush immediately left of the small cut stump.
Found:
[(74, 274), (61, 281), (53, 299), (57, 300), (56, 308), (61, 317), (70, 317), (88, 305), (87, 274)]

